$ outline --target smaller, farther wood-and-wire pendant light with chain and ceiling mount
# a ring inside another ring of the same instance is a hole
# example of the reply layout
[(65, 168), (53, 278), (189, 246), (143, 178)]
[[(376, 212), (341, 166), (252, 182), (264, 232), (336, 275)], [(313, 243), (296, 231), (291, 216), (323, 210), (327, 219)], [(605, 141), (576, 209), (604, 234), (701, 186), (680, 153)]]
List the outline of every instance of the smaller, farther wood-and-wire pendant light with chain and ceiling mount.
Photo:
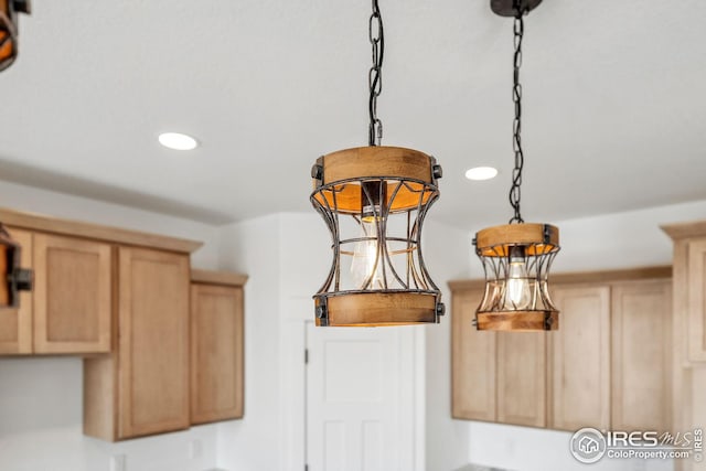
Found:
[(556, 330), (558, 310), (552, 302), (548, 275), (559, 251), (559, 229), (549, 224), (525, 223), (520, 213), (520, 186), (524, 153), (522, 130), (523, 15), (542, 0), (491, 0), (492, 10), (502, 17), (514, 17), (513, 61), (513, 150), (515, 168), (510, 190), (514, 216), (502, 226), (484, 228), (475, 234), (475, 253), (485, 271), (485, 292), (475, 311), (478, 330), (543, 331)]

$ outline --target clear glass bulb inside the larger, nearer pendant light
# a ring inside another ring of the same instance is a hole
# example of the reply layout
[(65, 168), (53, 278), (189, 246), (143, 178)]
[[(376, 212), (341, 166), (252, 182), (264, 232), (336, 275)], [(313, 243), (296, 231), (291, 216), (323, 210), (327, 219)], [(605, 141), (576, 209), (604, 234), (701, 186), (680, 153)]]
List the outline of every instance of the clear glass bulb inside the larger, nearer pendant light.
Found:
[[(361, 220), (361, 238), (353, 247), (351, 274), (359, 289), (383, 288), (383, 253), (377, 240), (375, 217)], [(370, 283), (367, 283), (370, 279)]]

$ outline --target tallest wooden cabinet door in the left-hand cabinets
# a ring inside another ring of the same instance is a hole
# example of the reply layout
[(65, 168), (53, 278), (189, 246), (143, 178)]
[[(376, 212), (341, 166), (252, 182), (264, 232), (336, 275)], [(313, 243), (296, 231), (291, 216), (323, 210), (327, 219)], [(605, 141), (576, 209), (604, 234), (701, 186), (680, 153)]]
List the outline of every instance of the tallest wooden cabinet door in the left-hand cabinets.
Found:
[(119, 438), (189, 427), (189, 256), (119, 249)]

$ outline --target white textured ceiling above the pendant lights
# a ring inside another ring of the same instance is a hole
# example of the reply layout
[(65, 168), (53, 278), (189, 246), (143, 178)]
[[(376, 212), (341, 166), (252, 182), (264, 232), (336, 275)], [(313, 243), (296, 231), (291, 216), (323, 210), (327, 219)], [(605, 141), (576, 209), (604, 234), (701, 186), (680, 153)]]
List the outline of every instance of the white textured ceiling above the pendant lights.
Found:
[[(366, 144), (370, 1), (34, 0), (0, 74), (0, 178), (208, 223), (309, 211), (317, 157)], [(381, 0), (383, 143), (443, 165), (429, 217), (502, 224), (512, 20)], [(523, 216), (706, 199), (706, 2), (545, 0), (525, 21)], [(157, 135), (195, 136), (192, 152)], [(494, 165), (490, 182), (466, 169)]]

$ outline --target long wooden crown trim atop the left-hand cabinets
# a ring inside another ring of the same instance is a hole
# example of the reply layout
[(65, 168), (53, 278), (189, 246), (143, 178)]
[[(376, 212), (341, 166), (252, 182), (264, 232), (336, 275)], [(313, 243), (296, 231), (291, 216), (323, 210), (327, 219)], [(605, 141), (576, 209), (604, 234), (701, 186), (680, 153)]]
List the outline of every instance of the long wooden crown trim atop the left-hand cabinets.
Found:
[(203, 243), (176, 237), (128, 231), (120, 227), (104, 226), (78, 221), (60, 220), (33, 213), (0, 208), (0, 221), (4, 224), (72, 237), (83, 237), (115, 244), (157, 248), (169, 251), (191, 254)]

